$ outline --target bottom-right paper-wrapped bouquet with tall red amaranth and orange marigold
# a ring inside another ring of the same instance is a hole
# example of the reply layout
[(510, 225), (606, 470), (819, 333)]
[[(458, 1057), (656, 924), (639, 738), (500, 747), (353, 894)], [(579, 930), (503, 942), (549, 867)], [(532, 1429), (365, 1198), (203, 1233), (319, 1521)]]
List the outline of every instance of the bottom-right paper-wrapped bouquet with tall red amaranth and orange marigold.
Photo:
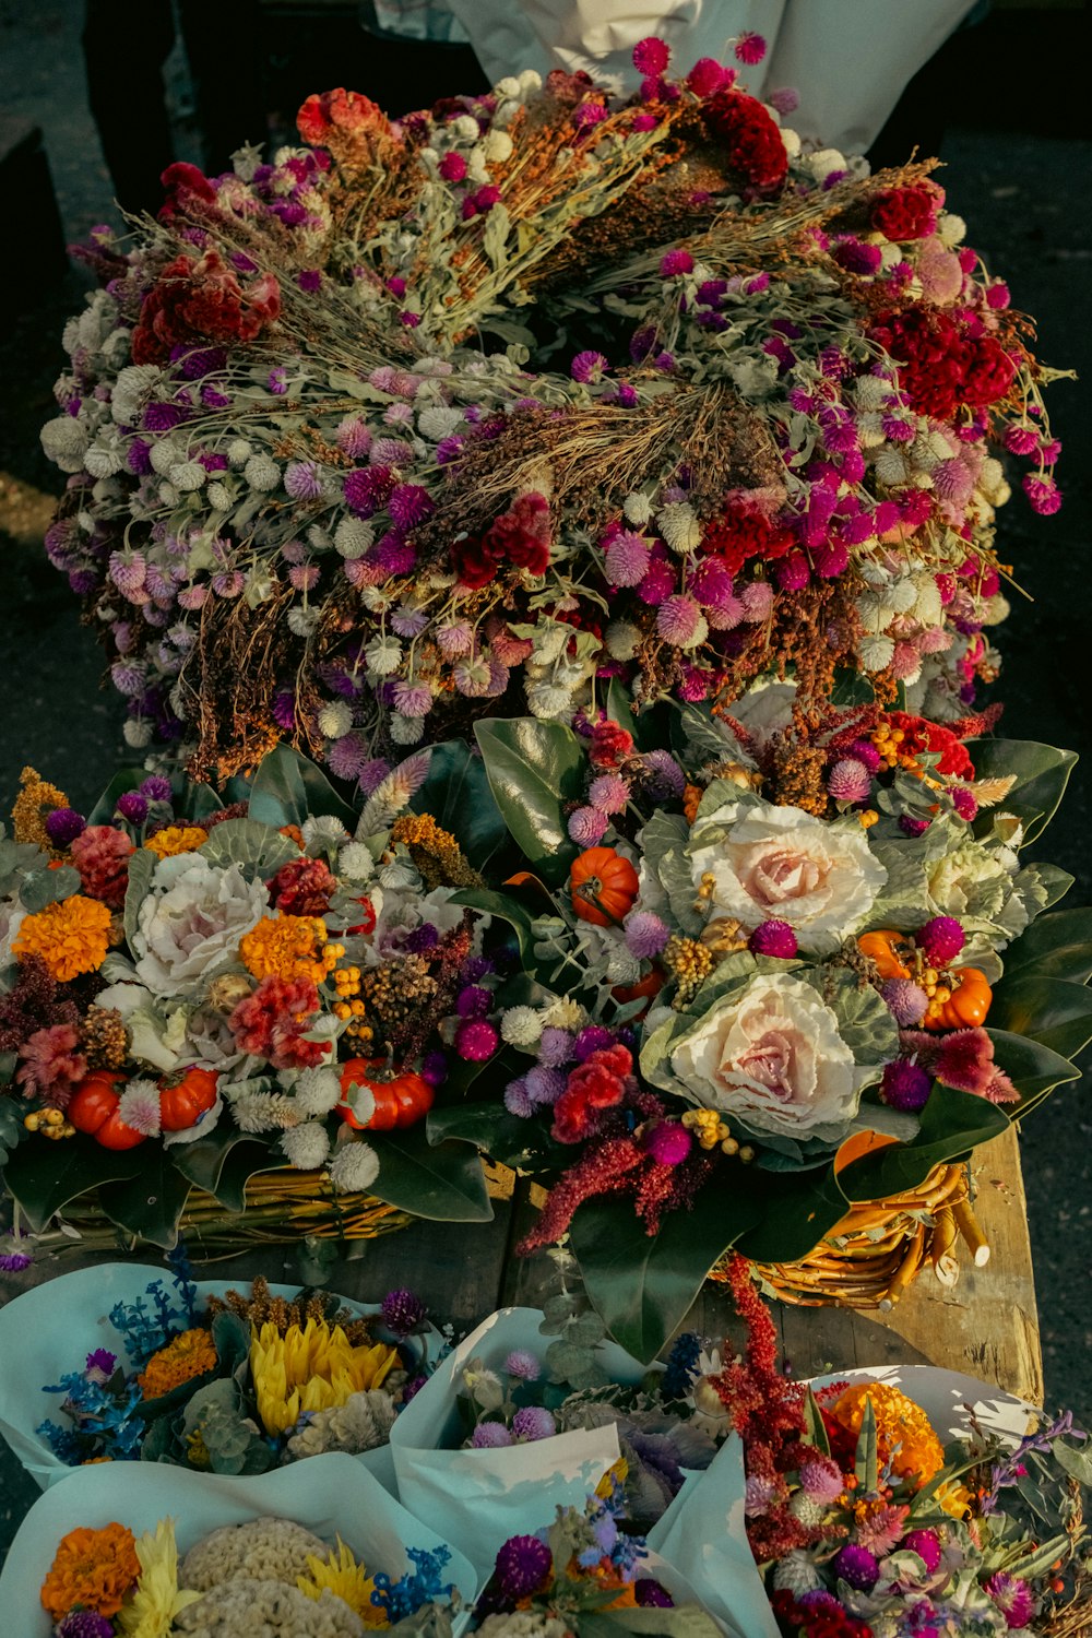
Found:
[[(1092, 1586), (1081, 1486), (1092, 1481), (1092, 1464), (1069, 1415), (1051, 1422), (1020, 1407), (1020, 1427), (1030, 1414), (1030, 1430), (999, 1433), (963, 1409), (958, 1438), (945, 1448), (945, 1422), (910, 1397), (914, 1371), (905, 1391), (863, 1371), (810, 1391), (789, 1382), (774, 1368), (773, 1322), (740, 1260), (733, 1292), (748, 1324), (747, 1353), (697, 1376), (693, 1394), (743, 1445), (742, 1512), (774, 1617), (751, 1617), (745, 1638), (1085, 1630)], [(969, 1387), (997, 1399), (984, 1384)], [(943, 1404), (945, 1394), (933, 1399)], [(678, 1556), (715, 1613), (738, 1617), (729, 1559), (709, 1535), (714, 1518), (732, 1528), (719, 1505), (720, 1461), (684, 1499), (661, 1551)]]

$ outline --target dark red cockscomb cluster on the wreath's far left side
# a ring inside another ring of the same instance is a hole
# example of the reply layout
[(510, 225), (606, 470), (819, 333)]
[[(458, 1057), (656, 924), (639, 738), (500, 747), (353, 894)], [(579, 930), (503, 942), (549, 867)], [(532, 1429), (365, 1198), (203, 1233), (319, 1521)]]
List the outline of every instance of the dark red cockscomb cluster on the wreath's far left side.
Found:
[(170, 349), (201, 341), (254, 341), (280, 313), (280, 285), (259, 274), (247, 285), (218, 251), (177, 256), (144, 296), (133, 331), (133, 362), (164, 364)]

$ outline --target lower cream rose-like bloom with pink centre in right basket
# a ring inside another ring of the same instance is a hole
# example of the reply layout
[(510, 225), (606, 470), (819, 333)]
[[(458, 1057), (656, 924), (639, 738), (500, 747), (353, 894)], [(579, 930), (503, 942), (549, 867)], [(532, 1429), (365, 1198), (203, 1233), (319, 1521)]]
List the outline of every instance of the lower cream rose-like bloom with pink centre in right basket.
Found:
[(755, 978), (738, 1001), (711, 1007), (676, 1042), (671, 1070), (751, 1132), (825, 1142), (843, 1135), (871, 1073), (819, 993), (791, 973)]

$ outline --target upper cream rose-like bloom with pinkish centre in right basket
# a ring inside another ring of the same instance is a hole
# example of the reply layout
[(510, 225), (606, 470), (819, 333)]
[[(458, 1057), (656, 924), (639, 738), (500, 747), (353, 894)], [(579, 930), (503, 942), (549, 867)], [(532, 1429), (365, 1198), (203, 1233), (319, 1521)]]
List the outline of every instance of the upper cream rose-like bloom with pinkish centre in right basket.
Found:
[[(732, 824), (737, 804), (697, 821), (689, 858), (697, 888), (712, 878), (712, 904), (747, 927), (786, 921), (802, 950), (837, 950), (864, 921), (887, 871), (871, 852), (855, 821), (828, 822), (802, 808), (748, 808)], [(727, 835), (702, 844), (711, 826), (730, 826)]]

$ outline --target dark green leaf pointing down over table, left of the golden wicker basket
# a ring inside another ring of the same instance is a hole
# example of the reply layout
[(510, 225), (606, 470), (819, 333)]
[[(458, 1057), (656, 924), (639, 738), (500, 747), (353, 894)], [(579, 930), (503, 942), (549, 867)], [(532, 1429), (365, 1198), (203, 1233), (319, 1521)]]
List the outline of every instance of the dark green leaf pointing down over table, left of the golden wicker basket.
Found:
[(693, 1212), (647, 1235), (629, 1201), (586, 1201), (570, 1227), (588, 1299), (642, 1364), (660, 1353), (706, 1274), (761, 1215), (761, 1188), (706, 1188)]

